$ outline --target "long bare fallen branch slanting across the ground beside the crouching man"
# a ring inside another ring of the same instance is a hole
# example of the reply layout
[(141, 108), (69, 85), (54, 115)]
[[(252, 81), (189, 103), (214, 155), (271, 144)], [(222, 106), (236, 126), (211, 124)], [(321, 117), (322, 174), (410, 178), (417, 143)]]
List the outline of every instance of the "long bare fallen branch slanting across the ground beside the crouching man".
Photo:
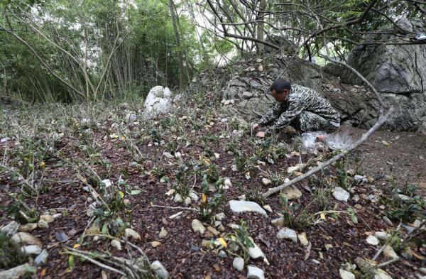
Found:
[(374, 126), (371, 127), (366, 133), (364, 133), (361, 136), (361, 138), (359, 138), (358, 141), (356, 141), (354, 144), (349, 146), (349, 148), (347, 148), (346, 150), (335, 155), (333, 158), (327, 160), (327, 162), (322, 163), (322, 165), (317, 166), (317, 168), (312, 168), (312, 170), (308, 171), (304, 175), (300, 175), (300, 176), (296, 177), (295, 179), (290, 180), (289, 182), (285, 182), (282, 185), (271, 188), (270, 190), (268, 190), (268, 192), (263, 193), (262, 196), (263, 197), (269, 197), (272, 194), (275, 194), (276, 192), (280, 192), (280, 190), (283, 190), (284, 188), (289, 187), (289, 186), (295, 184), (296, 182), (304, 180), (307, 177), (310, 177), (311, 175), (319, 172), (320, 170), (323, 170), (328, 165), (331, 165), (332, 163), (336, 162), (337, 160), (340, 160), (342, 157), (344, 157), (344, 155), (346, 155), (346, 153), (349, 153), (350, 151), (352, 151), (355, 148), (357, 148), (358, 146), (360, 146), (361, 143), (364, 143), (364, 141), (366, 141), (371, 136), (372, 133), (374, 133), (376, 130), (378, 130), (378, 128), (380, 128), (386, 122), (386, 120), (388, 119), (388, 116), (390, 114), (392, 114), (392, 112), (393, 112), (393, 107), (391, 107), (391, 109), (389, 109), (388, 112), (385, 115), (380, 116), (378, 121), (376, 122), (376, 124), (374, 124)]

